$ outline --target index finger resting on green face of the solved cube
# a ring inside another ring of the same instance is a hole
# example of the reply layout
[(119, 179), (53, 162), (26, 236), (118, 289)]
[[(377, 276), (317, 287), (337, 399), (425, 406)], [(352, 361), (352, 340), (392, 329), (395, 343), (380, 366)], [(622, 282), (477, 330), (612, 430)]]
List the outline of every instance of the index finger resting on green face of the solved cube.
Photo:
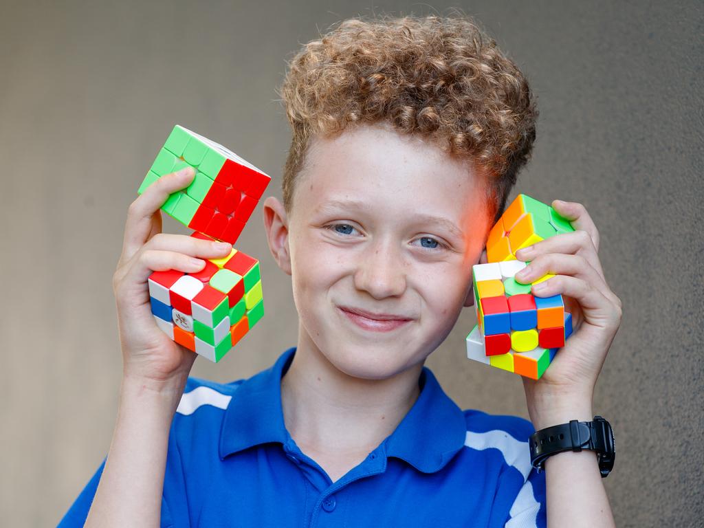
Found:
[(153, 232), (153, 214), (161, 209), (170, 194), (188, 187), (194, 177), (195, 171), (192, 167), (162, 176), (130, 204), (125, 223), (125, 239), (122, 244), (125, 260), (132, 258), (134, 253), (137, 253), (139, 248), (149, 240), (149, 234)]

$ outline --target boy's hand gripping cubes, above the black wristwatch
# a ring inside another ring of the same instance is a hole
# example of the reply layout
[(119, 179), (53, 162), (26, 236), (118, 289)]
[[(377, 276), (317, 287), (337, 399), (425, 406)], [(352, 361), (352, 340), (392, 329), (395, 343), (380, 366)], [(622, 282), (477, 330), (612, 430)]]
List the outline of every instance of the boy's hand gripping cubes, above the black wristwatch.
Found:
[(539, 297), (561, 294), (572, 313), (574, 333), (560, 348), (541, 379), (523, 378), (529, 414), (536, 429), (570, 420), (591, 420), (596, 379), (619, 328), (621, 300), (606, 283), (597, 252), (599, 232), (580, 203), (555, 200), (553, 208), (575, 231), (558, 234), (517, 251), (530, 264), (516, 275)]

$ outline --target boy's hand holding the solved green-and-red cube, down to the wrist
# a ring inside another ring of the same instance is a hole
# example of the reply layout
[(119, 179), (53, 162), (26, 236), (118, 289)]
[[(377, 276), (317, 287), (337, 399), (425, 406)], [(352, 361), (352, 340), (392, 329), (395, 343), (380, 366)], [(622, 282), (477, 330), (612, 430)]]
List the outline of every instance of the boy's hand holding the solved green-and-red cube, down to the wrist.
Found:
[(195, 175), (185, 168), (159, 178), (127, 210), (122, 255), (113, 275), (118, 310), (123, 375), (161, 389), (182, 385), (196, 353), (172, 341), (156, 325), (151, 313), (149, 284), (152, 271), (203, 269), (203, 258), (222, 258), (232, 244), (161, 232), (161, 206), (169, 194), (188, 187)]

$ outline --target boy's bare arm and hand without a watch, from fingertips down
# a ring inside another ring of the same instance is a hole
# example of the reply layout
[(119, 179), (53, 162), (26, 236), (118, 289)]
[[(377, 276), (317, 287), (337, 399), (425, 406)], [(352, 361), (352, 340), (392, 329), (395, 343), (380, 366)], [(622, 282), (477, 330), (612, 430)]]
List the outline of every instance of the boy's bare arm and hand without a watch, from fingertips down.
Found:
[(155, 270), (196, 272), (231, 244), (161, 234), (159, 209), (187, 187), (192, 168), (165, 175), (130, 205), (122, 255), (113, 275), (123, 375), (110, 451), (87, 527), (160, 525), (170, 425), (196, 355), (158, 328), (147, 279)]

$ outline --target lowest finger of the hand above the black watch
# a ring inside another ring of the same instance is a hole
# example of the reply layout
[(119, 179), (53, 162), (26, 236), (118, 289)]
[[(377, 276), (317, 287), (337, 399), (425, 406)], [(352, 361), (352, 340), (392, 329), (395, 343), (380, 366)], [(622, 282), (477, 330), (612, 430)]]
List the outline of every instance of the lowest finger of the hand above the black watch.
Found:
[(574, 298), (582, 308), (585, 320), (593, 325), (609, 325), (617, 318), (616, 306), (584, 279), (555, 275), (545, 282), (534, 284), (532, 293), (539, 297), (563, 295)]

